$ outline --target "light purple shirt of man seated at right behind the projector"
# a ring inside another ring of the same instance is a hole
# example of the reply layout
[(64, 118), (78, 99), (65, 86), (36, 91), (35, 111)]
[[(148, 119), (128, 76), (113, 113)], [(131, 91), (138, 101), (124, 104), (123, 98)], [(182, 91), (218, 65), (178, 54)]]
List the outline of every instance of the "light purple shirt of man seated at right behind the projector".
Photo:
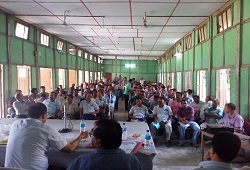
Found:
[(233, 115), (225, 114), (222, 119), (222, 123), (225, 125), (233, 126), (234, 128), (239, 128), (243, 130), (244, 119), (238, 113), (234, 112)]

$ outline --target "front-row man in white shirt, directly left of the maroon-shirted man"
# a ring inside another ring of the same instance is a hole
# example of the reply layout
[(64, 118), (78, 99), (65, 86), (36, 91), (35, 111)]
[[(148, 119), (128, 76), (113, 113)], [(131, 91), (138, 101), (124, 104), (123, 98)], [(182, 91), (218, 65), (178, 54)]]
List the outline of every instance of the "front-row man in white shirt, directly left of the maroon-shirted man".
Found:
[(171, 117), (172, 109), (164, 104), (164, 97), (158, 98), (158, 105), (153, 109), (154, 122), (150, 125), (150, 131), (154, 141), (156, 140), (156, 129), (164, 128), (166, 131), (166, 145), (170, 146), (170, 136), (172, 134)]

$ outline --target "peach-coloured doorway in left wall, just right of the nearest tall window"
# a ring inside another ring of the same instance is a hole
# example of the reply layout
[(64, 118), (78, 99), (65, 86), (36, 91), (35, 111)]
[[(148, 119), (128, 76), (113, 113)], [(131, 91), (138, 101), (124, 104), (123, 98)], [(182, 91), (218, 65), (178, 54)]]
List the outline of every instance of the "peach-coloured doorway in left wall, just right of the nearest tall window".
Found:
[(40, 81), (41, 81), (41, 86), (45, 86), (47, 92), (53, 91), (51, 68), (40, 68)]

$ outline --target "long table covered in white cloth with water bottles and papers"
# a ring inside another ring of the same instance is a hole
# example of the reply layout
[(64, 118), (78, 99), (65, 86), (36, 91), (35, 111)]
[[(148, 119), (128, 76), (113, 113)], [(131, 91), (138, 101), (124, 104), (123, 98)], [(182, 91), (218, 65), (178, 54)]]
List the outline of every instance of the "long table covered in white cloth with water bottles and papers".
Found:
[[(1, 123), (4, 124), (11, 124), (17, 119), (1, 119)], [(95, 121), (91, 120), (86, 120), (86, 130), (90, 131), (93, 126), (94, 126)], [(69, 123), (69, 121), (67, 121)], [(79, 128), (80, 128), (80, 120), (72, 120), (72, 125), (73, 125), (73, 130), (69, 133), (61, 133), (64, 139), (67, 141), (71, 141), (74, 139), (78, 134), (79, 134)], [(119, 122), (121, 125), (123, 122)], [(128, 140), (123, 141), (124, 142), (141, 142), (144, 140), (144, 134), (146, 133), (146, 130), (148, 129), (148, 125), (143, 122), (125, 122), (127, 125), (128, 129)], [(46, 121), (46, 124), (53, 127), (56, 130), (62, 129), (64, 127), (63, 120), (53, 120), (53, 119), (48, 119)], [(132, 135), (134, 133), (138, 133), (141, 136), (139, 138), (133, 138)], [(79, 147), (72, 153), (65, 153), (61, 151), (55, 151), (53, 149), (50, 149), (48, 152), (48, 159), (49, 159), (49, 164), (50, 165), (55, 165), (59, 167), (68, 167), (69, 164), (78, 156), (91, 152), (93, 149), (92, 148), (86, 148), (85, 146), (89, 144), (90, 140), (86, 139), (85, 141), (81, 142), (79, 144)], [(0, 145), (0, 166), (4, 164), (4, 158), (5, 158), (5, 150), (6, 150), (6, 145)], [(153, 168), (153, 158), (156, 155), (156, 150), (155, 146), (152, 142), (152, 147), (149, 150), (145, 150), (141, 148), (138, 150), (137, 153), (134, 154), (138, 160), (140, 161), (142, 165), (143, 170), (152, 170)]]

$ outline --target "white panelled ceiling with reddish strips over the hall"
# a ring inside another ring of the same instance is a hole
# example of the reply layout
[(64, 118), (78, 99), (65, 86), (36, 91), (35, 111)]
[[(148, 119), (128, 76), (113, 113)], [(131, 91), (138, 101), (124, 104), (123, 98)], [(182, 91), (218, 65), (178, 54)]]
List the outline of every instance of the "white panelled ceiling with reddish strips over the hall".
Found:
[(0, 8), (103, 59), (155, 60), (227, 1), (0, 0)]

